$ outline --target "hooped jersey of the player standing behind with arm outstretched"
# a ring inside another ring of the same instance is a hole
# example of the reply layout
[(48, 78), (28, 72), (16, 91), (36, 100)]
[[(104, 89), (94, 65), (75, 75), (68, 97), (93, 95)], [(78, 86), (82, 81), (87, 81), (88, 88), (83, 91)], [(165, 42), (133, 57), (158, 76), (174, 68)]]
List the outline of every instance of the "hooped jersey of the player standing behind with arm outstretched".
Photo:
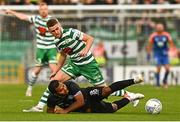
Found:
[(50, 32), (48, 32), (48, 28), (46, 26), (46, 23), (50, 18), (51, 16), (42, 18), (40, 15), (29, 17), (29, 21), (35, 26), (37, 48), (56, 48), (54, 44), (55, 37)]

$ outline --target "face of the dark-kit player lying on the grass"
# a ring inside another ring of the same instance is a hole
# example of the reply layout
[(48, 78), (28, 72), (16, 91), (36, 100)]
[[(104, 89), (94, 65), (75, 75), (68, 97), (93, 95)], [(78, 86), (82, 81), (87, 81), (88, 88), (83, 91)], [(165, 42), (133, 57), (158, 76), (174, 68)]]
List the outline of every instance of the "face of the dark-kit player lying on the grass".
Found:
[(64, 83), (59, 83), (58, 88), (56, 88), (56, 93), (58, 95), (67, 95), (69, 90), (67, 89), (66, 85)]

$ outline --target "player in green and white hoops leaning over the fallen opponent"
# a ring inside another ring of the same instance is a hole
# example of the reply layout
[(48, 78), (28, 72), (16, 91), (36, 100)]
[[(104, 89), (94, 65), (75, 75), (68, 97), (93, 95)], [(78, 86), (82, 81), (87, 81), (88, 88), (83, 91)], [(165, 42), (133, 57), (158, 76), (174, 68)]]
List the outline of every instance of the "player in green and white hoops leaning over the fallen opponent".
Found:
[[(94, 86), (106, 86), (98, 64), (90, 52), (94, 40), (93, 37), (76, 29), (63, 29), (56, 19), (50, 19), (47, 22), (47, 26), (56, 38), (54, 42), (61, 55), (56, 70), (51, 74), (50, 80), (66, 82), (83, 75)], [(67, 56), (69, 56), (69, 60), (64, 65)], [(47, 103), (47, 99), (44, 96), (47, 96), (48, 92), (48, 89), (44, 92), (38, 105), (23, 111), (42, 112), (42, 108)], [(134, 103), (138, 102), (135, 101)]]

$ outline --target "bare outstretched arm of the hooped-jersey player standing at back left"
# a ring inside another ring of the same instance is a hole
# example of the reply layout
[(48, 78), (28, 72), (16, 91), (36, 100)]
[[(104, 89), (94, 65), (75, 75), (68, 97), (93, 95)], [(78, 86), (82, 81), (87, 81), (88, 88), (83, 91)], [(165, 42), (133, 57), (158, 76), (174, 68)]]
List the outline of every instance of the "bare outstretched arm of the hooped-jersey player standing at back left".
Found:
[(10, 9), (6, 9), (5, 12), (6, 12), (6, 14), (14, 15), (21, 20), (29, 21), (29, 17), (26, 14), (19, 13), (19, 12), (10, 10)]

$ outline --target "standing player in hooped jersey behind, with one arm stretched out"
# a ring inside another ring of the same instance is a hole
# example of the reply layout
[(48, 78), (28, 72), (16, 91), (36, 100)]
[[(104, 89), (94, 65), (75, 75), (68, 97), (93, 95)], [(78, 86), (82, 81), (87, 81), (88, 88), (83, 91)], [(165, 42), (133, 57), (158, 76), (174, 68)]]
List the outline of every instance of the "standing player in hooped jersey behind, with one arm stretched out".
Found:
[[(16, 16), (21, 20), (26, 20), (34, 24), (36, 32), (36, 65), (28, 76), (28, 88), (26, 96), (32, 96), (32, 86), (35, 84), (38, 74), (45, 63), (49, 64), (51, 72), (54, 72), (57, 64), (57, 49), (54, 45), (54, 36), (49, 33), (46, 26), (47, 21), (51, 18), (48, 15), (48, 6), (46, 3), (40, 3), (39, 15), (28, 16), (13, 10), (6, 10), (7, 14)], [(47, 93), (48, 94), (48, 93)]]

